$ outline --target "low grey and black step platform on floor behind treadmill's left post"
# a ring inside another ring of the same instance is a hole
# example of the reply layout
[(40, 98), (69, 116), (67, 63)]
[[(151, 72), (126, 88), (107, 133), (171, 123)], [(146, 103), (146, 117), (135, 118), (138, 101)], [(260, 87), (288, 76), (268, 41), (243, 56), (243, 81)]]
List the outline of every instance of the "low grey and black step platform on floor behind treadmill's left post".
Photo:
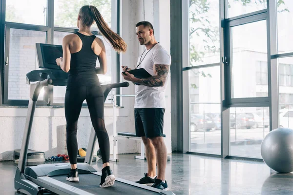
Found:
[[(21, 149), (17, 149), (13, 151), (13, 161), (15, 164), (19, 163), (19, 158), (21, 154)], [(26, 166), (34, 166), (45, 163), (45, 154), (44, 152), (35, 151), (35, 150), (27, 150), (27, 161)]]

